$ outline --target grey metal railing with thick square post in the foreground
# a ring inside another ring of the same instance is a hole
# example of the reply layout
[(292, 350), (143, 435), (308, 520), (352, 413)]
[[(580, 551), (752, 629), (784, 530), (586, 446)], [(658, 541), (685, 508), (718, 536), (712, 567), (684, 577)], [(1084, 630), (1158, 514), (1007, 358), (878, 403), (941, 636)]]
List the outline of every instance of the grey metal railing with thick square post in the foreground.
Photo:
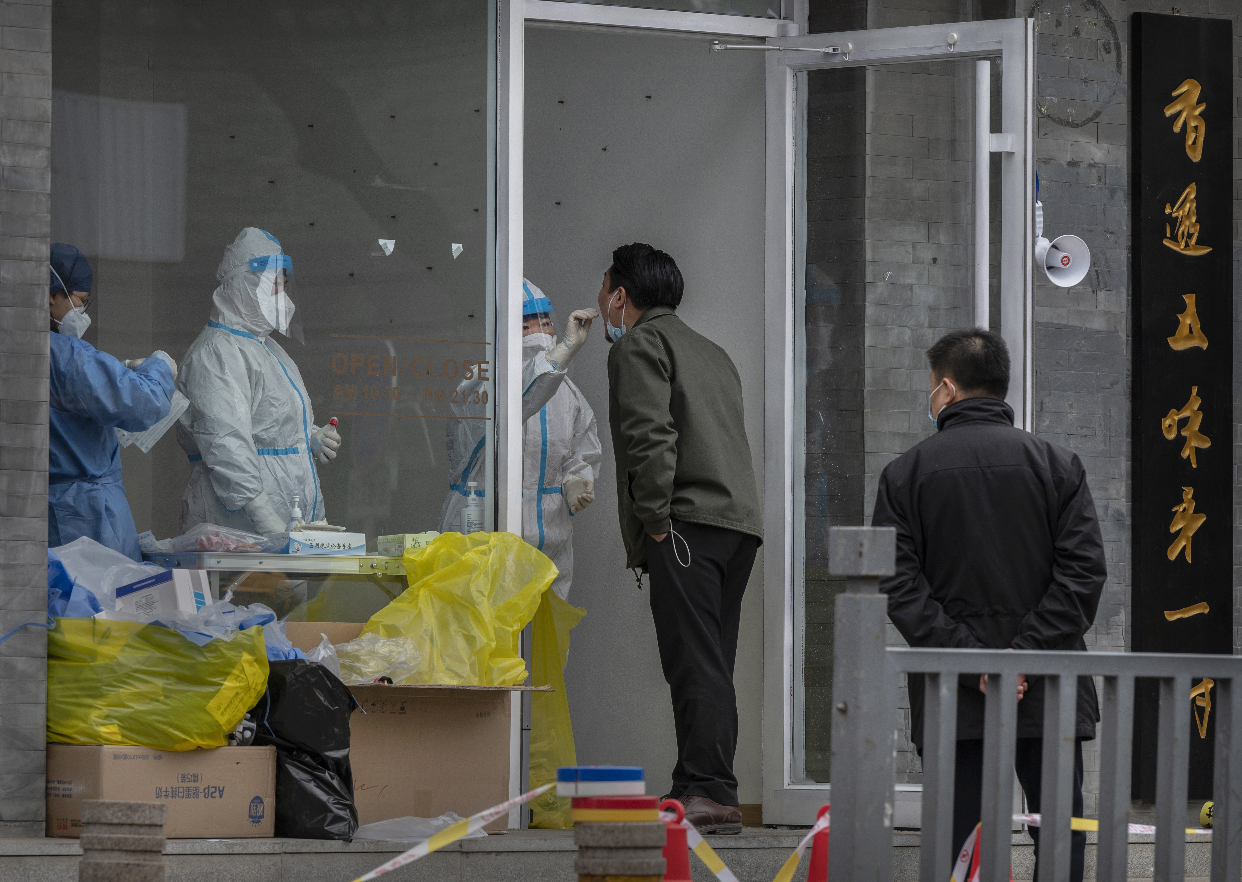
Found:
[[(1129, 844), (1135, 677), (1159, 681), (1155, 882), (1185, 875), (1191, 681), (1215, 681), (1212, 880), (1242, 877), (1242, 657), (1148, 653), (1040, 653), (886, 648), (887, 600), (879, 577), (893, 573), (891, 527), (833, 527), (830, 567), (846, 577), (837, 597), (832, 679), (832, 849), (830, 878), (889, 882), (893, 845), (893, 747), (898, 674), (927, 679), (923, 722), (922, 882), (945, 882), (953, 867), (953, 790), (958, 679), (987, 675), (984, 717), (981, 882), (1010, 878), (1017, 677), (1045, 685), (1040, 877), (1069, 878), (1071, 805), (1078, 677), (1104, 681), (1099, 840), (1095, 878), (1124, 882)], [(1238, 684), (1235, 686), (1235, 684)]]

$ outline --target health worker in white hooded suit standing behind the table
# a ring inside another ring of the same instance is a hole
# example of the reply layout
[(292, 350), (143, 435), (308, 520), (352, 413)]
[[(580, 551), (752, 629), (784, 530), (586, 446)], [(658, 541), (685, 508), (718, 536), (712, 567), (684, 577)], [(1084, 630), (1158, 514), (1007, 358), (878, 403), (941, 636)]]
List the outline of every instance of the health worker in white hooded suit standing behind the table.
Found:
[(246, 227), (216, 279), (210, 319), (176, 381), (190, 399), (176, 440), (194, 463), (181, 532), (202, 522), (284, 532), (294, 496), (303, 520), (325, 520), (315, 460), (335, 459), (340, 435), (315, 425), (298, 366), (271, 336), (303, 341), (293, 261), (274, 236)]

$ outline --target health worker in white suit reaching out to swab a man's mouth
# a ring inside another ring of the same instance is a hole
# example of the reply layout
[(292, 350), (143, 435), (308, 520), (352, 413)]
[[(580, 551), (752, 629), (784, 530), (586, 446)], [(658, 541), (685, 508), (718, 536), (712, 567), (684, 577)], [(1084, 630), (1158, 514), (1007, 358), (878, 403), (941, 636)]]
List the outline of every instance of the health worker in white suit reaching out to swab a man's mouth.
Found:
[[(569, 598), (574, 577), (573, 521), (595, 501), (600, 475), (600, 434), (595, 412), (568, 378), (570, 360), (586, 342), (595, 309), (569, 315), (565, 339), (554, 336), (551, 303), (544, 293), (522, 280), (522, 538), (551, 558), (560, 573), (551, 589), (561, 600)], [(458, 385), (458, 391), (482, 388), (477, 377)], [(458, 396), (465, 399), (466, 396)], [(455, 404), (462, 419), (450, 423), (448, 496), (440, 511), (440, 531), (460, 532), (468, 484), (484, 485), (483, 407)], [(471, 417), (476, 417), (471, 419)]]

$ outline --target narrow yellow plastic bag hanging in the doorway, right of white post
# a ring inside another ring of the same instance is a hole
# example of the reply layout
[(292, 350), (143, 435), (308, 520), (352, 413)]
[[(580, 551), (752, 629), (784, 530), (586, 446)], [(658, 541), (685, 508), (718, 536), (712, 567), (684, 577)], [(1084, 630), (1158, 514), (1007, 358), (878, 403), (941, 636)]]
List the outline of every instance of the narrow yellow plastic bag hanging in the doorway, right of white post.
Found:
[[(569, 659), (569, 631), (586, 610), (571, 607), (545, 592), (535, 612), (532, 639), (532, 685), (548, 684), (555, 692), (530, 693), (530, 789), (556, 780), (561, 765), (578, 765), (574, 751), (574, 726), (569, 719), (569, 696), (565, 693), (565, 661)], [(530, 826), (544, 830), (565, 830), (574, 826), (570, 800), (549, 790), (530, 800)]]

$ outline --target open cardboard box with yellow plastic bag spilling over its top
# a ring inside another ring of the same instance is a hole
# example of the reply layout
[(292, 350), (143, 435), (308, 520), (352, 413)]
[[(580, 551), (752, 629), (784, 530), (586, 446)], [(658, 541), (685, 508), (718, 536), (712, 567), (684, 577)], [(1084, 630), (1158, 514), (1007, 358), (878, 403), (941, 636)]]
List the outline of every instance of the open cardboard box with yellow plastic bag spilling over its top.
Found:
[[(310, 651), (327, 634), (347, 643), (363, 625), (288, 621), (286, 634)], [(509, 798), (513, 690), (504, 686), (350, 686), (366, 713), (350, 717), (349, 762), (360, 824), (390, 817), (468, 817)], [(489, 831), (507, 830), (508, 819)]]

